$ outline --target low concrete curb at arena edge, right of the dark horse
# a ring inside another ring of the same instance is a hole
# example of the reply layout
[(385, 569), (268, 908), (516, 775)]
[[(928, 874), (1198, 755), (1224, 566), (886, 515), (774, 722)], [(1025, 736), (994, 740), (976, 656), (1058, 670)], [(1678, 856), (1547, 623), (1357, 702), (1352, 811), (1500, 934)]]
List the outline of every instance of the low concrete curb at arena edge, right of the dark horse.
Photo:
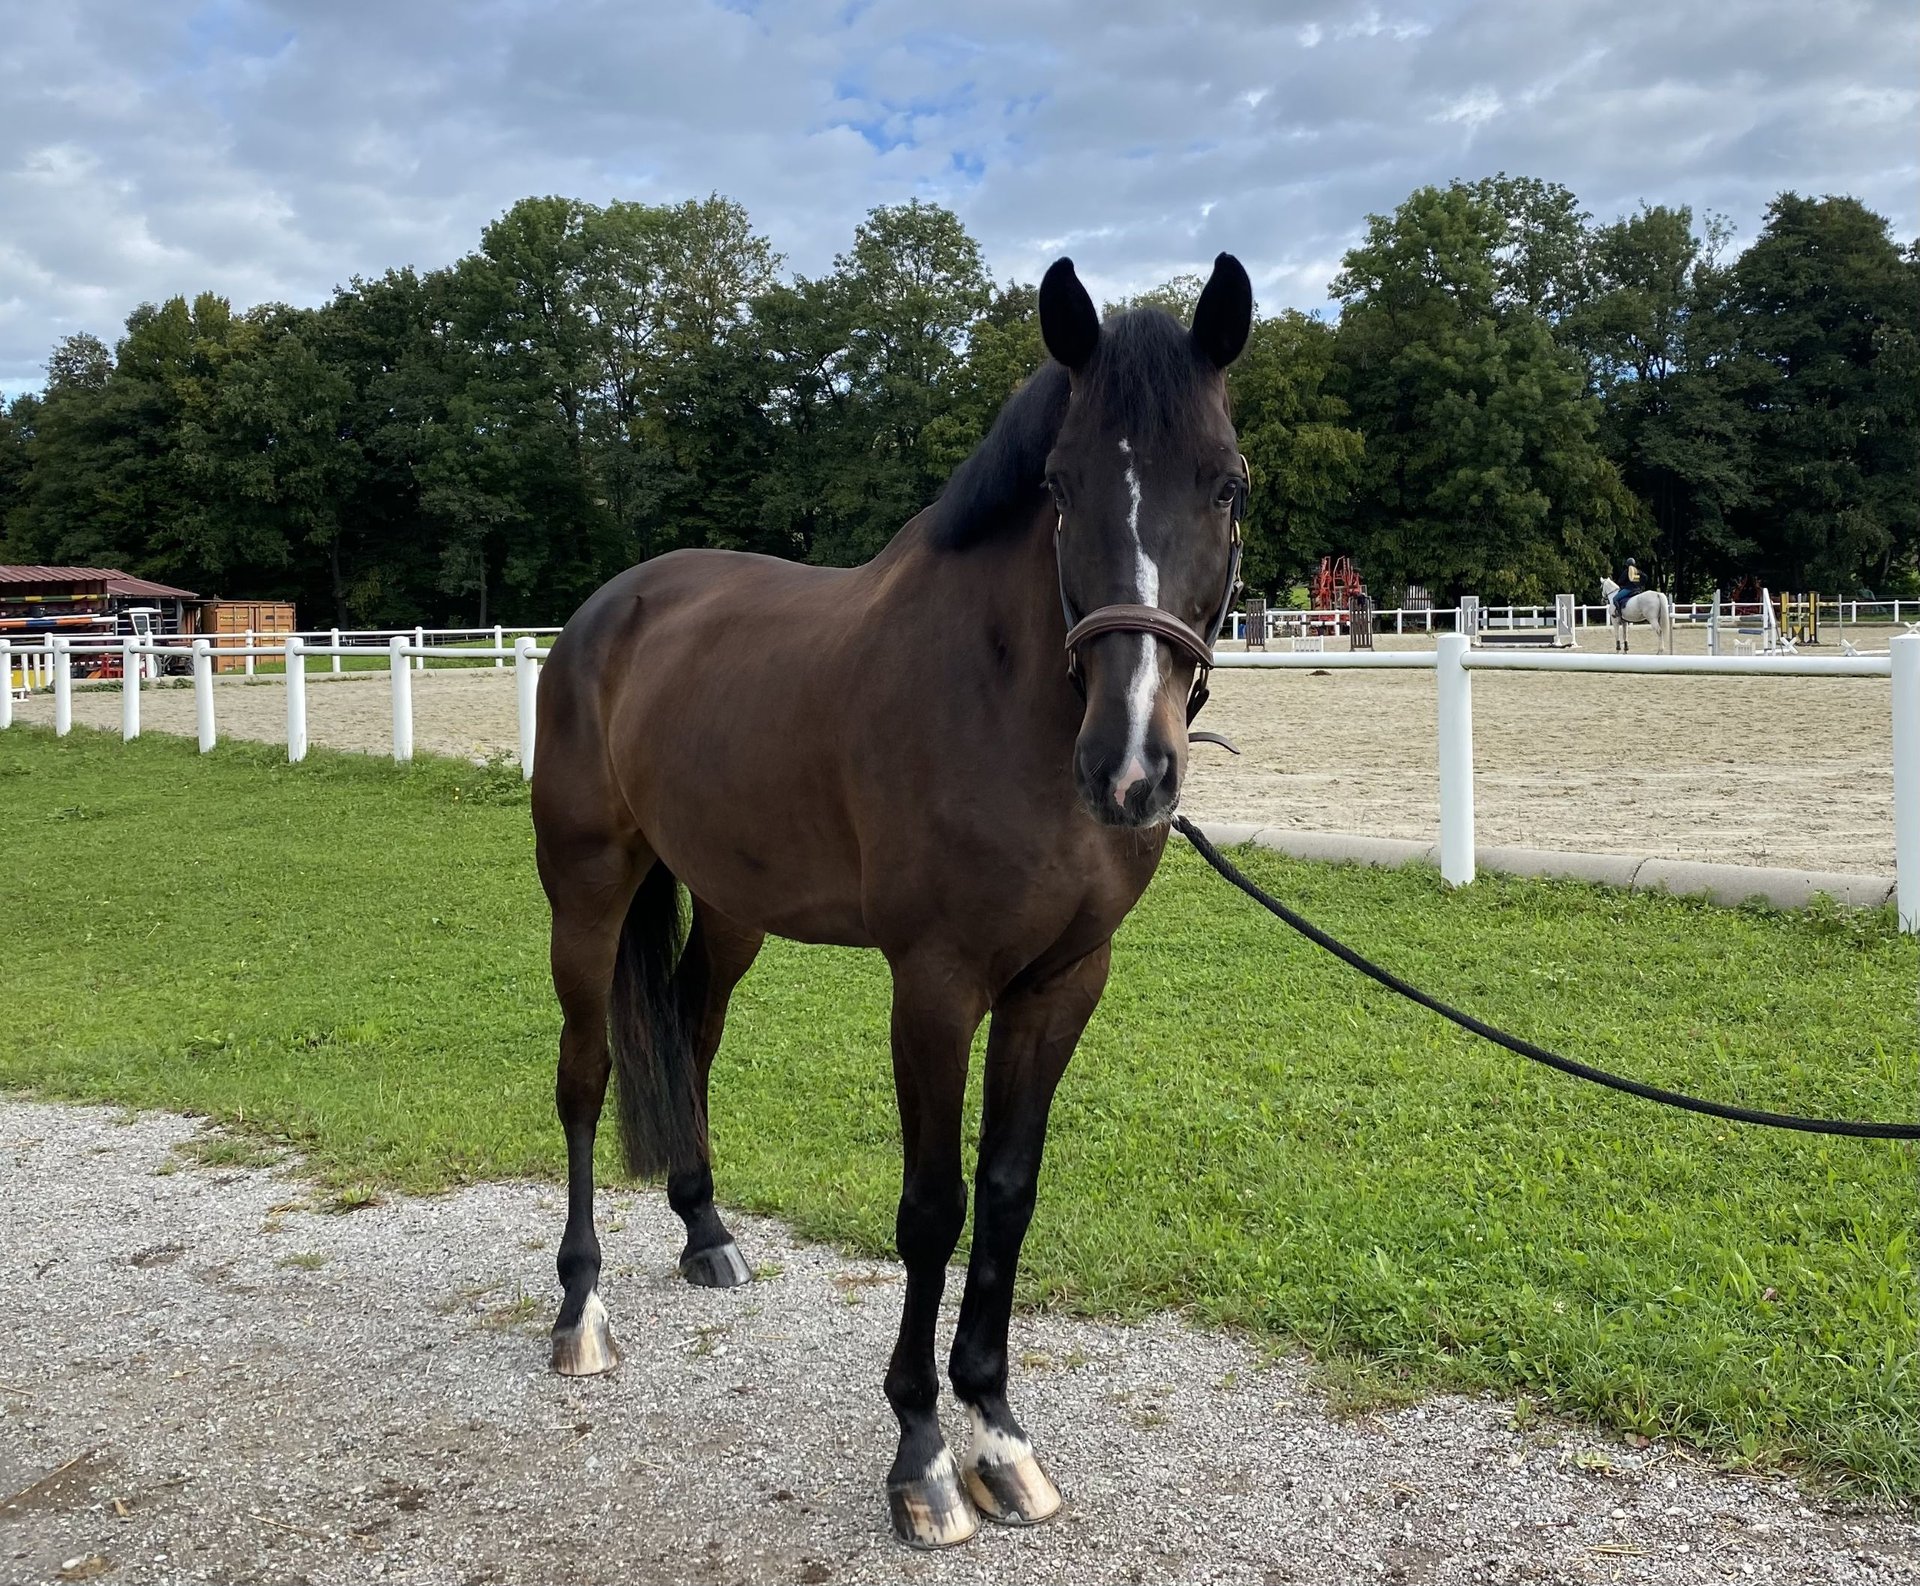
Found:
[[(1434, 843), (1405, 837), (1361, 837), (1346, 831), (1294, 831), (1254, 822), (1196, 822), (1215, 847), (1252, 843), (1288, 858), (1323, 864), (1373, 864), (1394, 870), (1404, 864), (1436, 864)], [(1847, 908), (1880, 908), (1893, 897), (1891, 876), (1857, 876), (1837, 870), (1774, 870), (1759, 864), (1705, 864), (1690, 858), (1647, 858), (1644, 854), (1580, 854), (1559, 849), (1486, 847), (1475, 849), (1478, 870), (1503, 876), (1540, 876), (1567, 881), (1594, 881), (1636, 893), (1703, 897), (1734, 906), (1759, 899), (1774, 908), (1805, 908), (1818, 895)]]

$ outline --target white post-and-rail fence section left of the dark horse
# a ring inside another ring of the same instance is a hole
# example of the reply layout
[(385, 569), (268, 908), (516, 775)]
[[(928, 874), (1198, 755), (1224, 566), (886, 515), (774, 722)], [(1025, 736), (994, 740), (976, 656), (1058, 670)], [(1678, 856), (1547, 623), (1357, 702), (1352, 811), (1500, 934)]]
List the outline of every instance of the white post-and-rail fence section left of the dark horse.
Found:
[[(559, 628), (541, 628), (534, 632), (557, 634)], [(534, 632), (524, 632), (507, 645), (430, 645), (415, 643), (405, 634), (392, 634), (386, 639), (388, 674), (394, 691), (394, 760), (396, 764), (405, 764), (413, 758), (413, 674), (415, 670), (426, 666), (428, 659), (440, 661), (492, 661), (495, 666), (505, 666), (513, 661), (515, 666), (515, 703), (518, 707), (518, 728), (520, 728), (520, 776), (532, 778), (534, 774), (534, 701), (540, 689), (540, 666), (545, 651), (534, 639)], [(355, 636), (357, 637), (357, 636)], [(77, 655), (117, 655), (121, 662), (121, 737), (131, 739), (140, 735), (140, 691), (146, 684), (142, 676), (146, 672), (144, 661), (148, 657), (159, 655), (179, 655), (186, 647), (186, 641), (169, 639), (136, 639), (125, 637), (113, 643), (92, 641), (92, 639), (65, 639), (52, 637), (44, 643), (17, 645), (10, 639), (0, 639), (0, 680), (12, 680), (12, 668), (21, 666), (23, 674), (33, 680), (38, 676), (46, 678), (46, 685), (54, 693), (54, 732), (65, 737), (73, 730), (73, 659)], [(194, 726), (200, 737), (200, 753), (205, 755), (219, 741), (215, 720), (213, 720), (213, 657), (221, 655), (244, 655), (248, 670), (253, 670), (253, 661), (269, 657), (273, 661), (286, 662), (286, 758), (300, 762), (307, 758), (307, 661), (309, 657), (328, 657), (334, 662), (334, 670), (340, 670), (340, 659), (344, 655), (369, 655), (378, 653), (369, 645), (359, 643), (338, 643), (338, 645), (315, 645), (307, 643), (300, 634), (288, 634), (280, 643), (271, 645), (246, 645), (244, 649), (225, 645), (215, 651), (213, 641), (205, 637), (196, 637), (190, 641), (188, 653), (192, 657), (192, 676), (194, 676)], [(12, 685), (0, 687), (0, 728), (13, 726), (13, 689)]]

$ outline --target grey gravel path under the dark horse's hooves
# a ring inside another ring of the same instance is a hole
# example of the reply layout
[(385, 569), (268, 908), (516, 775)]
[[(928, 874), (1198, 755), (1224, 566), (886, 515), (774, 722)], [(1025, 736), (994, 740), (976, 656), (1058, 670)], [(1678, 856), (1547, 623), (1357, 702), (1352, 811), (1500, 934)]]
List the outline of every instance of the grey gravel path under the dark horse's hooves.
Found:
[(0, 1580), (1920, 1580), (1910, 1521), (1784, 1480), (1492, 1400), (1342, 1425), (1296, 1359), (1052, 1315), (1018, 1319), (1016, 1402), (1066, 1515), (904, 1553), (893, 1267), (743, 1217), (762, 1279), (691, 1290), (662, 1198), (605, 1194), (628, 1354), (568, 1382), (555, 1189), (326, 1214), (196, 1133), (0, 1100)]

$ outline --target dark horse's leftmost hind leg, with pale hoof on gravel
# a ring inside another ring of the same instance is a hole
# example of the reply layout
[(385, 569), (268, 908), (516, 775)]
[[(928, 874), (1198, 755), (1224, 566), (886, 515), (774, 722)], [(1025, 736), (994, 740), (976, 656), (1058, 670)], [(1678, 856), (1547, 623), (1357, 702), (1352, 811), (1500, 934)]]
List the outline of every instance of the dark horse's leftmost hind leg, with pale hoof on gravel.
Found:
[(593, 1377), (620, 1359), (599, 1296), (593, 1137), (611, 1069), (607, 1008), (614, 956), (645, 860), (636, 862), (616, 845), (591, 845), (564, 860), (543, 845), (540, 860), (553, 904), (553, 989), (563, 1016), (553, 1093), (566, 1135), (566, 1231), (557, 1260), (563, 1298), (553, 1323), (551, 1365), (563, 1377)]

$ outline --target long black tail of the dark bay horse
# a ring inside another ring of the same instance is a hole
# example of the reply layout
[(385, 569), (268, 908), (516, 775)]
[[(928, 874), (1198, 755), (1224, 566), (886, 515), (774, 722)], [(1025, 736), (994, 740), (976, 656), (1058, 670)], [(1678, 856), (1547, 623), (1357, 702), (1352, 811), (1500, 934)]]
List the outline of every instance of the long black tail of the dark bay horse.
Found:
[(620, 927), (609, 1020), (620, 1081), (620, 1144), (636, 1177), (659, 1177), (707, 1158), (687, 985), (674, 973), (684, 949), (680, 881), (655, 862)]

